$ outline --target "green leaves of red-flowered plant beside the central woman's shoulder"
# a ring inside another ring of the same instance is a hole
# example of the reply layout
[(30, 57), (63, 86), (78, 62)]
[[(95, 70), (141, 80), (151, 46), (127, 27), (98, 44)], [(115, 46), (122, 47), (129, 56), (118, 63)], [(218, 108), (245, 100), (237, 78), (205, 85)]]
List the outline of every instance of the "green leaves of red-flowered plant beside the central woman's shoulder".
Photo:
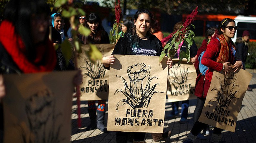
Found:
[[(188, 27), (190, 29), (191, 26)], [(194, 25), (192, 25), (191, 28), (193, 28)], [(183, 37), (184, 36), (184, 37)], [(188, 45), (186, 47), (186, 51), (180, 51), (179, 59), (180, 61), (178, 64), (180, 65), (180, 62), (183, 58), (186, 58), (187, 61), (190, 61), (190, 47), (192, 46), (192, 37), (195, 36), (195, 33), (192, 30), (185, 30), (183, 29), (183, 26), (180, 26), (180, 29), (173, 34), (172, 41), (165, 45), (164, 50), (161, 52), (161, 56), (159, 57), (159, 63), (163, 60), (164, 56), (166, 55), (167, 51), (167, 57), (170, 59), (173, 59), (174, 55), (177, 53), (177, 50), (180, 47), (180, 43), (182, 40)], [(182, 46), (184, 47), (184, 46)]]

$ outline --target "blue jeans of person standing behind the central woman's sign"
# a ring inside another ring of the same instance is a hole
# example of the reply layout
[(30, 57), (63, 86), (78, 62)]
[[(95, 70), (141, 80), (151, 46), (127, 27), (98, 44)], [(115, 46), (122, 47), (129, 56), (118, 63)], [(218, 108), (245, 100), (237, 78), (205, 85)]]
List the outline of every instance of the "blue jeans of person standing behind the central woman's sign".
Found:
[[(171, 102), (172, 115), (179, 114), (179, 101)], [(188, 118), (189, 100), (181, 101), (181, 118)]]

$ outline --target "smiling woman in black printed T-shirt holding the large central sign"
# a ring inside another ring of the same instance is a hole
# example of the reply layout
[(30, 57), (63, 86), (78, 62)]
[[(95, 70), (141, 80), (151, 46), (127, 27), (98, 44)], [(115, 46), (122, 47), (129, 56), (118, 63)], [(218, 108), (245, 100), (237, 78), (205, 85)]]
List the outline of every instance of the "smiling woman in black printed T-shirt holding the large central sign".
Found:
[[(112, 54), (123, 55), (145, 55), (145, 56), (160, 56), (162, 51), (162, 43), (157, 37), (151, 34), (150, 24), (152, 20), (152, 14), (146, 10), (141, 9), (134, 15), (134, 26), (132, 30), (125, 33), (123, 37), (120, 37), (115, 45)], [(143, 51), (143, 52), (139, 52)], [(109, 69), (110, 64), (114, 63), (114, 56), (103, 57), (101, 62)], [(172, 61), (168, 60), (167, 64), (169, 68), (172, 67)], [(163, 134), (152, 133), (153, 139), (159, 141), (163, 138), (170, 136), (171, 131)], [(127, 132), (117, 132), (117, 143), (127, 142)], [(134, 142), (144, 142), (145, 133), (134, 133)]]

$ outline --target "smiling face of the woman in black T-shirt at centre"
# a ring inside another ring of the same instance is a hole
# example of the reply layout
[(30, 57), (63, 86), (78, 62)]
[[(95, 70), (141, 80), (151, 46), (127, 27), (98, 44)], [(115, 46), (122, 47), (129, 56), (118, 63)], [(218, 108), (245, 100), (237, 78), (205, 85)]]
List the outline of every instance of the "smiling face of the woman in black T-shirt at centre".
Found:
[(136, 27), (136, 33), (146, 35), (147, 31), (150, 28), (150, 17), (146, 13), (142, 13), (134, 20), (134, 25)]

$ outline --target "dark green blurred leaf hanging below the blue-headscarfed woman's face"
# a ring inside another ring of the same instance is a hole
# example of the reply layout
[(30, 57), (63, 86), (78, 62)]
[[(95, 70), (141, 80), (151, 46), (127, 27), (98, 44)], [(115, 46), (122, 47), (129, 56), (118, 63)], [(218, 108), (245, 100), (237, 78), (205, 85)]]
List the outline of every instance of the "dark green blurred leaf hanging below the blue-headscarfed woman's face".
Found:
[(68, 60), (71, 58), (72, 56), (72, 49), (71, 49), (71, 44), (69, 43), (68, 39), (65, 39), (63, 41), (63, 43), (61, 43), (61, 51), (62, 51), (62, 54), (66, 60), (66, 65), (68, 65)]

